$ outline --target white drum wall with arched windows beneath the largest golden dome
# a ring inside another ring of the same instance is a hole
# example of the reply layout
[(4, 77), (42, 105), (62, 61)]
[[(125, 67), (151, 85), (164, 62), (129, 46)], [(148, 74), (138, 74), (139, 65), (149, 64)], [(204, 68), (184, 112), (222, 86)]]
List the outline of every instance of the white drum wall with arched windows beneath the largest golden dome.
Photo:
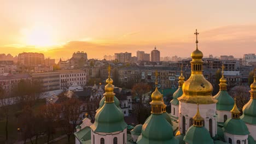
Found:
[[(209, 121), (212, 119), (212, 137), (217, 134), (216, 104), (199, 105), (200, 115), (205, 121), (205, 128), (209, 130)], [(190, 119), (197, 112), (197, 104), (179, 101), (179, 131), (183, 134), (183, 116), (185, 117), (185, 133), (190, 126)]]

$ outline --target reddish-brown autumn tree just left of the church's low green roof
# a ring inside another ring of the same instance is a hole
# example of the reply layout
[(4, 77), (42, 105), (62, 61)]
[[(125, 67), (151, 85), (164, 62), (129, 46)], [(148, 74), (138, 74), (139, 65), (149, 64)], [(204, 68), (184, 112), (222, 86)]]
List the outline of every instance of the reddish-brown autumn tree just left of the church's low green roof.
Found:
[(61, 103), (62, 111), (59, 124), (68, 137), (68, 143), (70, 142), (70, 136), (74, 133), (76, 125), (81, 120), (81, 105), (81, 101), (74, 97)]

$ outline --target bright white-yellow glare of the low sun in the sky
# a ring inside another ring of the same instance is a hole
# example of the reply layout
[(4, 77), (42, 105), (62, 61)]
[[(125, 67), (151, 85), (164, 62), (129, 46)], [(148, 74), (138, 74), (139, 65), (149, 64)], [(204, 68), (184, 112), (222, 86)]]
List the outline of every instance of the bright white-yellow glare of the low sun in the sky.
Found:
[(35, 47), (46, 47), (53, 44), (53, 34), (50, 29), (40, 27), (32, 29), (22, 29), (24, 35), (23, 43)]

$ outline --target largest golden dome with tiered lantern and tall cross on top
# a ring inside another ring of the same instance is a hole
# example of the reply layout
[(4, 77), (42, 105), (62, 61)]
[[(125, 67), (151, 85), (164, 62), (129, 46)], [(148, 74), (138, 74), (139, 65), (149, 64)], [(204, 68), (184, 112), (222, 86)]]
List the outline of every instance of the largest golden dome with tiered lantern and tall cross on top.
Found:
[(212, 97), (213, 87), (202, 74), (203, 61), (202, 52), (198, 49), (197, 44), (197, 30), (196, 35), (196, 50), (191, 53), (191, 76), (183, 83), (183, 95), (178, 98), (179, 101), (192, 104), (214, 104), (217, 100)]

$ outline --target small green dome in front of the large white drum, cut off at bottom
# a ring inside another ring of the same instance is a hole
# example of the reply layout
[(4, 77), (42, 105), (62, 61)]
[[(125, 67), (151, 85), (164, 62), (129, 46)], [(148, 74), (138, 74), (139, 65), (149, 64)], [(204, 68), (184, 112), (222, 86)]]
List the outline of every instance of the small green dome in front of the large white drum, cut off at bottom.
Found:
[(213, 139), (205, 127), (191, 126), (184, 137), (184, 141), (189, 144), (213, 144)]

